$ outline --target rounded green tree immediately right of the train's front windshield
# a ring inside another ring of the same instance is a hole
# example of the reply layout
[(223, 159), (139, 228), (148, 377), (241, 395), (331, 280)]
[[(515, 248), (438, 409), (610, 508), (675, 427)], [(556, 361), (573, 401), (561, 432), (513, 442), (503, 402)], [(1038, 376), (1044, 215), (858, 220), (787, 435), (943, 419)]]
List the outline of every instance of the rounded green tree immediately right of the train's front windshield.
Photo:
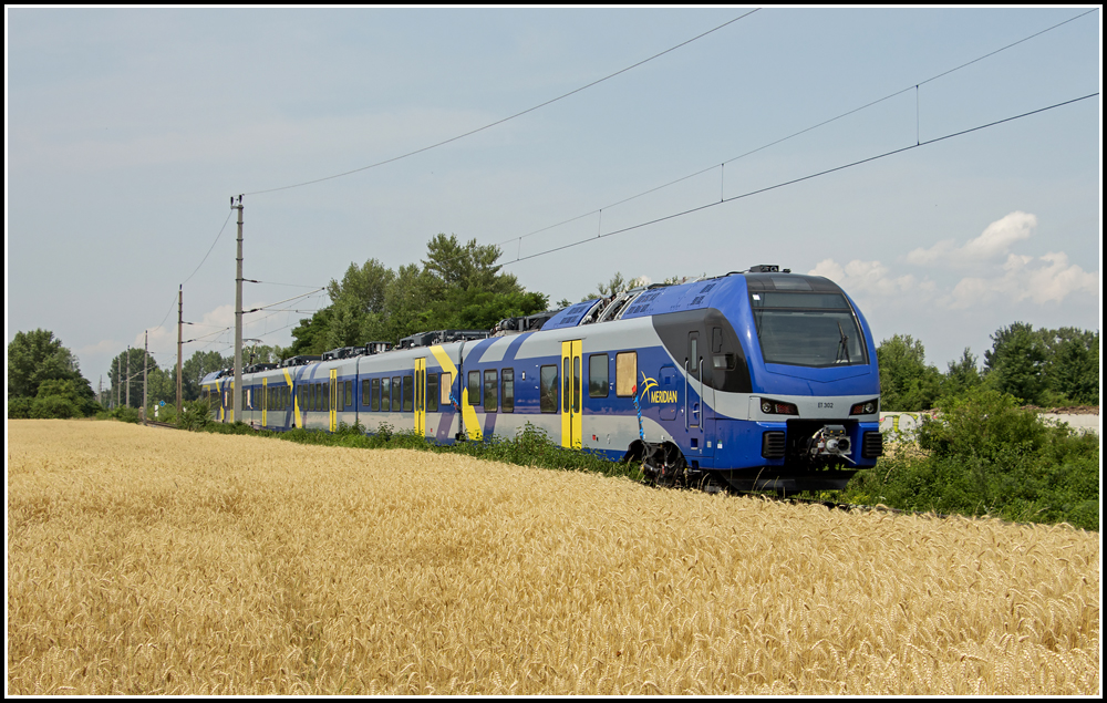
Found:
[(930, 410), (941, 393), (942, 374), (927, 364), (921, 341), (896, 334), (877, 347), (880, 365), (880, 405), (884, 410)]

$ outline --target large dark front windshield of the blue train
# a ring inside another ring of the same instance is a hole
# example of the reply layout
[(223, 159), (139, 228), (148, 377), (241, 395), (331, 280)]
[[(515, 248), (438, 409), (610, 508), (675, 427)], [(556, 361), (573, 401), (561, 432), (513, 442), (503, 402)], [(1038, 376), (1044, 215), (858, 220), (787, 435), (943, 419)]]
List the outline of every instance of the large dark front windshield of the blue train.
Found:
[(766, 363), (867, 364), (865, 340), (841, 293), (762, 291), (749, 296)]

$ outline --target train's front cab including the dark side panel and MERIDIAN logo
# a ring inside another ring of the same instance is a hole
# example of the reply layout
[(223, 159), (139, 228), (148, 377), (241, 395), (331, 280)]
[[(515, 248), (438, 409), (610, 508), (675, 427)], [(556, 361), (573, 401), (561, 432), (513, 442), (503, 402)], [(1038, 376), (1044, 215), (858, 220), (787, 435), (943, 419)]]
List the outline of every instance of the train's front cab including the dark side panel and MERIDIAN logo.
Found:
[[(741, 490), (845, 487), (880, 454), (879, 373), (863, 317), (818, 277), (716, 282), (703, 307), (652, 316), (668, 353), (660, 368), (645, 358), (645, 382), (658, 390), (642, 396), (643, 414), (671, 434), (690, 478), (713, 475)], [(676, 402), (654, 407), (656, 397)]]

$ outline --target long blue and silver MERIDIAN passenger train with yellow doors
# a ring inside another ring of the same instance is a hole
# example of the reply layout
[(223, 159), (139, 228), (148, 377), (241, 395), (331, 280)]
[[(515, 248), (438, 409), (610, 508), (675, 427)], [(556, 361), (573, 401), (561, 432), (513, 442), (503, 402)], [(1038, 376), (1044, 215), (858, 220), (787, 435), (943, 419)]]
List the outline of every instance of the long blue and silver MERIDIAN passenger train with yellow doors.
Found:
[[(530, 423), (658, 483), (738, 490), (841, 488), (882, 453), (872, 334), (825, 278), (757, 266), (536, 317), (252, 366), (238, 420), (439, 443)], [(223, 422), (231, 385), (228, 371), (201, 383)]]

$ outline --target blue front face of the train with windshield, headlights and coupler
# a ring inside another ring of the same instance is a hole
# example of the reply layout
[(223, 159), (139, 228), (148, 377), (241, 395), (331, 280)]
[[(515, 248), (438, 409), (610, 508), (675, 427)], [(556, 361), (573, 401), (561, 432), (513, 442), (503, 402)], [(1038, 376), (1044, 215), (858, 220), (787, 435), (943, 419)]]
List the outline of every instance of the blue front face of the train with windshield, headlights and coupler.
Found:
[(748, 395), (731, 399), (745, 407), (728, 409), (716, 428), (716, 447), (727, 454), (717, 465), (751, 467), (726, 473), (739, 489), (845, 488), (882, 449), (868, 323), (827, 279), (743, 278), (746, 291), (728, 317), (746, 331)]

